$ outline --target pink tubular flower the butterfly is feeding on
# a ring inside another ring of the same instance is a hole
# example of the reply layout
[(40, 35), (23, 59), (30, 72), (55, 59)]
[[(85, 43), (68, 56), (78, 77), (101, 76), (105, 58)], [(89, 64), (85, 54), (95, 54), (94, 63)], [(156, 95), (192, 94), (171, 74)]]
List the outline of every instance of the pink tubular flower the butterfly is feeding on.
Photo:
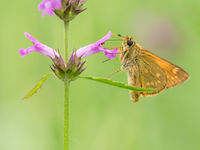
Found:
[(95, 53), (104, 52), (104, 55), (106, 57), (108, 57), (109, 59), (115, 58), (116, 55), (117, 55), (117, 49), (109, 50), (109, 49), (106, 49), (106, 48), (101, 46), (110, 37), (111, 37), (111, 32), (108, 32), (108, 34), (105, 37), (103, 37), (102, 39), (98, 40), (96, 43), (93, 43), (93, 44), (90, 44), (90, 45), (87, 45), (87, 46), (79, 48), (76, 51), (77, 57), (84, 58), (84, 57), (87, 57), (87, 56), (95, 54)]

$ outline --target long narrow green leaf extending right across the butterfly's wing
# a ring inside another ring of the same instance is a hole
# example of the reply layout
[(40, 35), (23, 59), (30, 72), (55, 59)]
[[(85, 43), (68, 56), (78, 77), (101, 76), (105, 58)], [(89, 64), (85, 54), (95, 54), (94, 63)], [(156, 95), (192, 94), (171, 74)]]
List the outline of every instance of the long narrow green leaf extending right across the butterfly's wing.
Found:
[(118, 82), (118, 81), (112, 81), (112, 80), (106, 79), (106, 78), (97, 78), (97, 77), (79, 77), (79, 78), (94, 80), (94, 81), (97, 81), (97, 82), (109, 84), (109, 85), (112, 85), (112, 86), (117, 86), (117, 87), (120, 87), (120, 88), (132, 90), (132, 91), (137, 91), (137, 92), (155, 92), (156, 91), (154, 89), (136, 88), (134, 86), (130, 86), (130, 85), (124, 84), (122, 82)]

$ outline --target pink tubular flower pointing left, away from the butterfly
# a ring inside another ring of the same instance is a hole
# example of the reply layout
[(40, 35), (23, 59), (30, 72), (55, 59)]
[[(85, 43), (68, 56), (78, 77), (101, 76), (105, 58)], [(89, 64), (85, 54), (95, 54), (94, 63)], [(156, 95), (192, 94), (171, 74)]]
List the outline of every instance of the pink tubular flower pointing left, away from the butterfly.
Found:
[(32, 53), (33, 51), (36, 51), (38, 53), (41, 53), (43, 55), (46, 55), (48, 57), (50, 57), (51, 59), (54, 59), (56, 56), (59, 57), (59, 53), (56, 52), (54, 49), (40, 43), (39, 41), (37, 41), (34, 37), (32, 37), (29, 33), (25, 32), (25, 36), (32, 41), (32, 43), (34, 44), (33, 46), (27, 48), (27, 49), (19, 49), (19, 54), (21, 56), (25, 56), (29, 53)]

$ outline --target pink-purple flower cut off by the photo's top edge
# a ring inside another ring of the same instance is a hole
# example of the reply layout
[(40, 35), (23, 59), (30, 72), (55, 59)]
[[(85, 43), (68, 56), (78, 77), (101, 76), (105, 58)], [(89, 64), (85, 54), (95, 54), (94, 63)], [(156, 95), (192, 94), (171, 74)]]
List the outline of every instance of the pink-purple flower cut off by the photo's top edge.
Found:
[(46, 14), (53, 16), (54, 10), (61, 8), (62, 8), (61, 0), (43, 0), (38, 6), (39, 10), (43, 10), (42, 17), (44, 17)]

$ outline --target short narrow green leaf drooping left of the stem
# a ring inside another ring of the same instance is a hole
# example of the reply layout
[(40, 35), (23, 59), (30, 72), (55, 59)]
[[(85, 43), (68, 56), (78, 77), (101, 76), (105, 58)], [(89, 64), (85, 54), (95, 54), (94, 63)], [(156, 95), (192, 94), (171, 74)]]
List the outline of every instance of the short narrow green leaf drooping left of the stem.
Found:
[(44, 81), (47, 79), (48, 76), (53, 75), (53, 73), (47, 73), (45, 74), (39, 81), (38, 83), (35, 85), (35, 87), (24, 97), (24, 99), (28, 99), (30, 98), (33, 94), (35, 94), (39, 88), (42, 87), (42, 84), (44, 83)]

